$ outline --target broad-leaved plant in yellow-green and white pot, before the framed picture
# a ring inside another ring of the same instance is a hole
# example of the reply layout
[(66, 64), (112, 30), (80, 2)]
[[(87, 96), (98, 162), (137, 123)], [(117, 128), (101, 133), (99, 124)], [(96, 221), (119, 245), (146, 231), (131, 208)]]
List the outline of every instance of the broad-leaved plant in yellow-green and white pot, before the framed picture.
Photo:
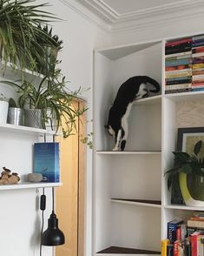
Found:
[(204, 158), (201, 156), (203, 142), (194, 145), (194, 155), (187, 152), (174, 153), (174, 167), (168, 174), (168, 189), (173, 185), (174, 176), (179, 174), (179, 184), (186, 205), (204, 206)]

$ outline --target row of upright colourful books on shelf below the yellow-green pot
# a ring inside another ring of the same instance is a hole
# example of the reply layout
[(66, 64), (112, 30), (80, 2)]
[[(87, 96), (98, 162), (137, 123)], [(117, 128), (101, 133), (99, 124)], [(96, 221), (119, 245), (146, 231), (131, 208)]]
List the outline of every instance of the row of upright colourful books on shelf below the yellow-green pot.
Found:
[(204, 255), (204, 212), (194, 212), (186, 222), (168, 222), (167, 239), (161, 240), (161, 256)]

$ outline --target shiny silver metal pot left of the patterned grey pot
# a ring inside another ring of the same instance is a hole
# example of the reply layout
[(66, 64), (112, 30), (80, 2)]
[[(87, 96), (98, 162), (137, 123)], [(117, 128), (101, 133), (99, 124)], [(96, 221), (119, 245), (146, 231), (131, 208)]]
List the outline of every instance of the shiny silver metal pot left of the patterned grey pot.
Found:
[(24, 110), (10, 107), (8, 111), (7, 123), (11, 125), (24, 125)]

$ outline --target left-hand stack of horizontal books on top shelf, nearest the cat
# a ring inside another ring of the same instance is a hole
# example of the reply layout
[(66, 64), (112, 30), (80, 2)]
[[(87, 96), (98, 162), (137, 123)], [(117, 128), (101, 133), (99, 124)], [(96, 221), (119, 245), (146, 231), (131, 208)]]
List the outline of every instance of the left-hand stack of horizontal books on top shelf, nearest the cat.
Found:
[(191, 91), (192, 38), (168, 42), (165, 58), (165, 93)]

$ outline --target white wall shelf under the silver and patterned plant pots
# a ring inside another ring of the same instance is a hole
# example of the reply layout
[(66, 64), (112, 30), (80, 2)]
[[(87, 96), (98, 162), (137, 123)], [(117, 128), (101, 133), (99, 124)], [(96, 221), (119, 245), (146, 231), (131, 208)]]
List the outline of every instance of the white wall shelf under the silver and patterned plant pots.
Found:
[(10, 124), (0, 124), (0, 131), (3, 132), (14, 132), (18, 134), (33, 134), (33, 135), (55, 135), (56, 131), (47, 131), (44, 129), (38, 129), (22, 125), (10, 125)]

